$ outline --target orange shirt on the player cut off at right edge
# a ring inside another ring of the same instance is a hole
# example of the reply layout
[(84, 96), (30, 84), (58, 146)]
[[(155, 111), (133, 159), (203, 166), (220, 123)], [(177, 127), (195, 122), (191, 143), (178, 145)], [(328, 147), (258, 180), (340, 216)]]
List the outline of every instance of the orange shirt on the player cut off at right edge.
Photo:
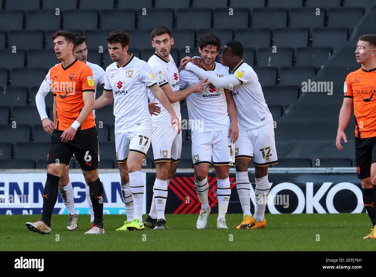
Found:
[(355, 137), (376, 136), (376, 68), (359, 68), (350, 72), (346, 77), (343, 92), (344, 97), (353, 98)]

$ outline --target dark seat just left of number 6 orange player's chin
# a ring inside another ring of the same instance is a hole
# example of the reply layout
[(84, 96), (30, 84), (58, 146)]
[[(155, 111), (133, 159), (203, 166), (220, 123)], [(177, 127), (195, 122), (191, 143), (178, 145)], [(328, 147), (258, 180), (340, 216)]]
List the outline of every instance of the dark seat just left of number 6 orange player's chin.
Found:
[[(61, 61), (56, 57), (54, 51), (50, 49), (38, 49), (27, 51), (27, 67), (44, 68), (50, 70), (55, 64)], [(43, 80), (39, 80), (42, 83)]]

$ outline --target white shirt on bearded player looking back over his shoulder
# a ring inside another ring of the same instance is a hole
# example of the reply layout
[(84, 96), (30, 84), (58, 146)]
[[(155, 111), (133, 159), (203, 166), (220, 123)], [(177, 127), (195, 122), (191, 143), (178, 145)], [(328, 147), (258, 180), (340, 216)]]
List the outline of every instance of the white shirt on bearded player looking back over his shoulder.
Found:
[[(149, 61), (147, 61), (147, 63), (151, 67), (157, 84), (160, 87), (169, 85), (171, 86), (171, 89), (173, 91), (180, 89), (179, 70), (177, 69), (175, 61), (171, 55), (169, 56), (169, 61), (166, 61), (164, 58), (155, 53), (152, 57), (149, 58)], [(170, 113), (168, 113), (167, 110), (158, 101), (158, 99), (155, 98), (150, 89), (148, 90), (148, 93), (150, 102), (156, 102), (158, 103), (157, 105), (161, 107), (161, 112), (158, 114), (158, 116), (152, 116), (153, 127), (171, 126)], [(173, 107), (176, 116), (180, 118), (181, 115), (179, 101), (172, 103), (171, 106)]]

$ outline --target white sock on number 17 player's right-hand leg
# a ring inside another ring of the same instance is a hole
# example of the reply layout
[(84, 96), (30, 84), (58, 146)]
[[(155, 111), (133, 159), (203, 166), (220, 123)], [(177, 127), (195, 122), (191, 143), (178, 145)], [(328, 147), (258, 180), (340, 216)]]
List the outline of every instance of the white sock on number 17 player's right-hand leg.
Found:
[(134, 205), (134, 219), (142, 221), (142, 211), (144, 205), (144, 180), (141, 171), (129, 172), (130, 190), (132, 191)]

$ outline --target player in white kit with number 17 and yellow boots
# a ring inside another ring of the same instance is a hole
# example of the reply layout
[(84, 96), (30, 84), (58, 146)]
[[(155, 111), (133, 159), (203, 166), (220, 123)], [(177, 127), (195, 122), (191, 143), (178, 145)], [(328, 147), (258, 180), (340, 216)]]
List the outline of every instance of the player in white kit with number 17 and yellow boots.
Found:
[(94, 102), (94, 109), (100, 109), (114, 99), (115, 148), (127, 213), (127, 220), (117, 231), (143, 230), (141, 165), (152, 138), (148, 88), (169, 113), (172, 124), (169, 128), (177, 129), (179, 134), (181, 124), (149, 64), (128, 54), (129, 35), (120, 30), (112, 31), (106, 41), (114, 63), (106, 68), (103, 95)]

